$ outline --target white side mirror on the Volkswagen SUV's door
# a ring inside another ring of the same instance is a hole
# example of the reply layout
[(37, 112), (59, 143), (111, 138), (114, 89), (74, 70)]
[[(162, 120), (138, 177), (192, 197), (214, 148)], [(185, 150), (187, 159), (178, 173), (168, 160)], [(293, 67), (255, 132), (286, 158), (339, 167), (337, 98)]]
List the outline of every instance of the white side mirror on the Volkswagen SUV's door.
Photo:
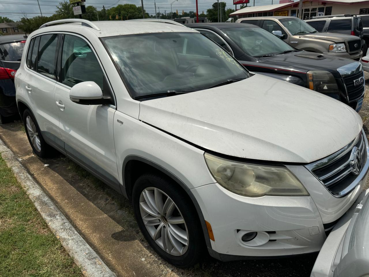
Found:
[(102, 105), (108, 99), (103, 98), (103, 92), (97, 83), (88, 81), (74, 85), (69, 92), (69, 98), (73, 102), (82, 105)]

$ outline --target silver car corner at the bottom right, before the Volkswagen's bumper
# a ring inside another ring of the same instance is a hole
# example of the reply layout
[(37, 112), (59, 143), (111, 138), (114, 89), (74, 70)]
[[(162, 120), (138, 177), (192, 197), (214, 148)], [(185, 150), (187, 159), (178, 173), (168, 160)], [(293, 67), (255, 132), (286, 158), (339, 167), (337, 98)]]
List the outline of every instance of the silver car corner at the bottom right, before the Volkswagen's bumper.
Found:
[(334, 226), (319, 252), (311, 277), (368, 276), (368, 191), (364, 197), (362, 194)]

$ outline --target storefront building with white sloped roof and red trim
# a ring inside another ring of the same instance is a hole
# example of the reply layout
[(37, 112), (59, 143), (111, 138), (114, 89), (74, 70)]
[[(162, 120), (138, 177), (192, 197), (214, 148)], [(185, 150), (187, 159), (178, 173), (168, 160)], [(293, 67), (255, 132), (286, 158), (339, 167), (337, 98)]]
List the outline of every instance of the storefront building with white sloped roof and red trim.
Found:
[[(369, 1), (303, 1), (303, 19), (313, 16), (330, 16), (334, 14), (369, 14)], [(231, 13), (236, 18), (258, 16), (299, 16), (299, 2), (275, 5), (246, 7)]]

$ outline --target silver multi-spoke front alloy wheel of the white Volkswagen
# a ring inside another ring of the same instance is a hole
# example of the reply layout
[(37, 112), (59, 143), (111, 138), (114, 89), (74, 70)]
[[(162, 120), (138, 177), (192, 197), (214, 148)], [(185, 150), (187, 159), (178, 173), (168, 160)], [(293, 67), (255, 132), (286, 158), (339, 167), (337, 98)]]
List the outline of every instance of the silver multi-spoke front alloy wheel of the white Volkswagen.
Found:
[(145, 188), (140, 195), (141, 218), (152, 239), (173, 256), (182, 256), (189, 246), (186, 222), (173, 200), (158, 188)]

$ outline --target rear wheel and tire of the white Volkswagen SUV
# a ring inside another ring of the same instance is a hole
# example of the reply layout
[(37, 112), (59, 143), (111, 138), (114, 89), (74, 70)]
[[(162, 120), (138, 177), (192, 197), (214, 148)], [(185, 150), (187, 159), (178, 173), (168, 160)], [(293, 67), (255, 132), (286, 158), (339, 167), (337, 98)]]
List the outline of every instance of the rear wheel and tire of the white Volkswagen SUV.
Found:
[(28, 141), (38, 157), (46, 158), (55, 153), (54, 148), (49, 146), (42, 137), (37, 121), (29, 109), (26, 109), (23, 113), (23, 123)]

